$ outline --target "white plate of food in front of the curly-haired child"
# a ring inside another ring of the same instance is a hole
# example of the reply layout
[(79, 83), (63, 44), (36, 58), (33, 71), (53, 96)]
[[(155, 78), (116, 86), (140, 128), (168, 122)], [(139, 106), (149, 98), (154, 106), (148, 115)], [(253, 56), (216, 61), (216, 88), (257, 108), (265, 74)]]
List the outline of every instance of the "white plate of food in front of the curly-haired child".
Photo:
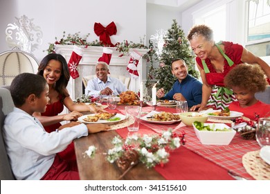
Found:
[(230, 120), (233, 118), (237, 118), (240, 116), (243, 116), (242, 112), (236, 112), (236, 111), (230, 111), (228, 109), (224, 109), (224, 110), (213, 110), (212, 112), (208, 113), (208, 117), (209, 118), (217, 118), (217, 119), (226, 119), (226, 120)]

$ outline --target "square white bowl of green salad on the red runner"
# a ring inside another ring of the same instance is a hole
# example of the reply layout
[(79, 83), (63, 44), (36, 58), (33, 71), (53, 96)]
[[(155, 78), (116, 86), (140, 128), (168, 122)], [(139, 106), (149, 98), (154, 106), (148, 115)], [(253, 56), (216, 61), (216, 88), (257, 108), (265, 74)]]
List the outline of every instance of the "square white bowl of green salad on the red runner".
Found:
[(192, 123), (193, 129), (201, 144), (228, 145), (233, 140), (236, 131), (224, 123)]

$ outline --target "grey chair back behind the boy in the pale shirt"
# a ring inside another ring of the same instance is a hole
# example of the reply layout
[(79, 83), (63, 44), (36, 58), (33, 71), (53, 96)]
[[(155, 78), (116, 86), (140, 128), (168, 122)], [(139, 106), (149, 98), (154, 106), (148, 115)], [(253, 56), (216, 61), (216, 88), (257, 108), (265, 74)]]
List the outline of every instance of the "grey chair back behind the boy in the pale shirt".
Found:
[(15, 177), (10, 167), (10, 161), (3, 141), (3, 121), (6, 115), (12, 112), (14, 104), (10, 95), (9, 87), (0, 87), (0, 179), (14, 180)]

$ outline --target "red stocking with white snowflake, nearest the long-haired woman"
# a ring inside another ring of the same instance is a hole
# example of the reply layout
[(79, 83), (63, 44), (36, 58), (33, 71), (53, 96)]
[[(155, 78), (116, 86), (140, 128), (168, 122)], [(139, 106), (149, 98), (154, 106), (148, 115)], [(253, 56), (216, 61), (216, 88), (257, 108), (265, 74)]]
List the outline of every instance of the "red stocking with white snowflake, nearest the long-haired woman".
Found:
[(74, 46), (73, 51), (71, 53), (71, 58), (69, 59), (69, 73), (73, 79), (79, 77), (79, 73), (77, 71), (78, 64), (82, 59), (82, 48), (78, 46)]

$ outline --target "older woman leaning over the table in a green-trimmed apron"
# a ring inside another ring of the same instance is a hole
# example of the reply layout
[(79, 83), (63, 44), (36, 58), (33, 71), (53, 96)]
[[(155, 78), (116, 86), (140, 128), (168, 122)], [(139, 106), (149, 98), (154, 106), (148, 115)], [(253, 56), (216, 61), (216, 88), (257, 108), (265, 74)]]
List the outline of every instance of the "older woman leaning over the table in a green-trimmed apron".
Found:
[(215, 43), (213, 30), (206, 25), (191, 28), (188, 41), (192, 51), (197, 55), (197, 67), (203, 82), (201, 104), (191, 107), (192, 111), (207, 107), (225, 109), (236, 100), (233, 91), (224, 87), (224, 77), (237, 64), (257, 63), (270, 78), (270, 67), (266, 62), (240, 44), (224, 41)]

